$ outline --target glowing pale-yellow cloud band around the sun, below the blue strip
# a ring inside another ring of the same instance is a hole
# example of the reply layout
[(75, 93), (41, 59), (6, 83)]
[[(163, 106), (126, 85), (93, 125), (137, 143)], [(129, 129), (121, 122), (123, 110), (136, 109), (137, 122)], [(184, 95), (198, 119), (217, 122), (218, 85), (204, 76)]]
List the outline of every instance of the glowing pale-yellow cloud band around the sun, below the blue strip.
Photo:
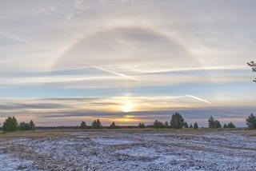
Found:
[[(199, 97), (193, 99), (204, 101)], [(100, 113), (122, 113), (123, 107), (129, 106), (132, 111), (156, 111), (167, 109), (189, 109), (205, 106), (204, 104), (194, 103), (193, 99), (184, 98), (184, 96), (158, 96), (158, 97), (95, 97), (95, 98), (43, 98), (29, 99), (21, 98), (17, 100), (1, 100), (0, 107), (3, 110), (9, 109), (30, 109), (32, 112), (53, 113), (52, 109), (58, 109), (58, 113), (67, 111), (97, 111)], [(209, 101), (207, 101), (210, 103)], [(3, 111), (2, 111), (3, 112)], [(56, 112), (56, 111), (55, 111)], [(1, 112), (0, 112), (1, 113)]]

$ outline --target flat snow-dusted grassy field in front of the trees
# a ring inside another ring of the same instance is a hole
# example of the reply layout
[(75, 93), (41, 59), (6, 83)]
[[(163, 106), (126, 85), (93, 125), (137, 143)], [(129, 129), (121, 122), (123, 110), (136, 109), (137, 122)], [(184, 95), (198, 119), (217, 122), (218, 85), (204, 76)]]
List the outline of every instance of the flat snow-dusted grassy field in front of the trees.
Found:
[(0, 135), (2, 170), (255, 170), (254, 131), (37, 130)]

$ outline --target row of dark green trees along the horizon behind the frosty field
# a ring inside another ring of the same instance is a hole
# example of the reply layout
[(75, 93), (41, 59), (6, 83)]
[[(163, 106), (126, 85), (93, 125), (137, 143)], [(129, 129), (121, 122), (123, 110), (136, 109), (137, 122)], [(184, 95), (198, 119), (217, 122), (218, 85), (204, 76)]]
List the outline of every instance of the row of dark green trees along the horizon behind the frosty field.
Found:
[[(249, 117), (246, 118), (246, 125), (248, 125), (249, 129), (256, 129), (256, 116), (254, 113), (251, 113)], [(108, 127), (109, 129), (119, 129), (121, 126), (116, 125), (115, 122), (113, 121)], [(208, 127), (210, 129), (219, 129), (222, 128), (222, 125), (218, 120), (215, 120), (214, 117), (210, 117), (208, 119)], [(34, 121), (30, 122), (20, 122), (18, 124), (18, 121), (15, 117), (7, 117), (6, 121), (3, 122), (2, 125), (2, 130), (4, 132), (11, 132), (11, 131), (16, 131), (16, 130), (34, 130), (36, 128)], [(76, 129), (102, 129), (102, 123), (99, 119), (94, 120), (91, 125), (86, 125), (85, 121), (82, 121), (80, 126), (76, 126)], [(122, 126), (123, 128), (123, 126)], [(145, 125), (144, 123), (140, 122), (137, 126), (126, 126), (128, 129), (132, 128), (139, 128), (139, 129), (144, 129), (144, 128), (154, 128), (154, 129), (198, 129), (198, 123), (194, 122), (194, 125), (190, 124), (188, 125), (186, 121), (184, 121), (182, 115), (180, 113), (174, 113), (171, 117), (170, 122), (166, 121), (163, 123), (162, 121), (155, 120), (153, 125)], [(234, 123), (231, 121), (228, 124), (223, 125), (224, 129), (234, 129), (236, 126)]]

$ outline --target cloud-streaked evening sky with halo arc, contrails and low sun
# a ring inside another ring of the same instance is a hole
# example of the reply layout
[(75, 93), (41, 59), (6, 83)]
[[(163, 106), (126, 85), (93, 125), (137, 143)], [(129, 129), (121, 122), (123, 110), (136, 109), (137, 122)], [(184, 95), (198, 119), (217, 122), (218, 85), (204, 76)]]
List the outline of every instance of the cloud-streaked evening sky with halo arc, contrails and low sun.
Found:
[(246, 126), (253, 0), (2, 0), (0, 122)]

